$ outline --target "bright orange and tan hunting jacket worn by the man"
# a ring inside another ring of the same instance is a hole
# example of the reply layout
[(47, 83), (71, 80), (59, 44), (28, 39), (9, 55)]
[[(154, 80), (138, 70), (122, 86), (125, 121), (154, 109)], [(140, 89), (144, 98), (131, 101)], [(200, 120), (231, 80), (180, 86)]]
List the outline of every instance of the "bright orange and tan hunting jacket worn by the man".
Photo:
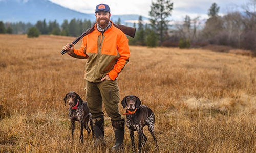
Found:
[(87, 58), (84, 77), (87, 81), (100, 82), (105, 75), (115, 80), (129, 61), (128, 39), (113, 22), (103, 34), (95, 24), (94, 31), (83, 37), (80, 49), (74, 49), (71, 56)]

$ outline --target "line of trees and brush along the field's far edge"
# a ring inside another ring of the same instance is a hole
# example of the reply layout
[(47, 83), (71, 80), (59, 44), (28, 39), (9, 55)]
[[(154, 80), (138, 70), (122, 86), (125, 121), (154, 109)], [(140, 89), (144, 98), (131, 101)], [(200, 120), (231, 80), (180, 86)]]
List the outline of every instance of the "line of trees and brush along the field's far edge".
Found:
[[(170, 24), (173, 2), (171, 0), (152, 1), (149, 12), (149, 23), (144, 23), (142, 16), (134, 23), (135, 38), (129, 37), (130, 45), (165, 46), (165, 47), (201, 47), (208, 44), (225, 45), (256, 51), (256, 0), (249, 0), (243, 11), (229, 12), (219, 15), (220, 7), (213, 3), (208, 9), (208, 19), (200, 16), (190, 18), (188, 15), (181, 24)], [(115, 23), (120, 23), (120, 18)], [(203, 23), (204, 22), (204, 23)], [(0, 21), (0, 33), (26, 34), (32, 31), (32, 36), (62, 35), (79, 36), (91, 26), (90, 20), (64, 20), (61, 25), (56, 21), (37, 21), (30, 23), (3, 23)]]

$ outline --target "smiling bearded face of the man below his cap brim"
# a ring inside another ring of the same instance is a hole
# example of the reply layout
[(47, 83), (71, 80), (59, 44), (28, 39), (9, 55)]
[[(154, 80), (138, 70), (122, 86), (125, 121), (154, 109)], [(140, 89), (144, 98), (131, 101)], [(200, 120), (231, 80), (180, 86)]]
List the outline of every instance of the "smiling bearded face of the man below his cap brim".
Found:
[(98, 11), (96, 14), (96, 21), (100, 28), (105, 28), (108, 25), (111, 17), (111, 13), (105, 11)]

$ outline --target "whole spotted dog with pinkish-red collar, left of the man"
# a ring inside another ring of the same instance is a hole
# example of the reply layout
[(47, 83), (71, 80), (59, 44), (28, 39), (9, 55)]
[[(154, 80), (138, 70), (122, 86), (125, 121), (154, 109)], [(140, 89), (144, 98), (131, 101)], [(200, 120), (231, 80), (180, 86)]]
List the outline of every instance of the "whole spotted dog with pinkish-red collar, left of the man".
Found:
[[(94, 131), (93, 131), (93, 125), (92, 125), (92, 116), (89, 111), (89, 108), (87, 106), (87, 102), (83, 101), (80, 96), (70, 91), (66, 94), (64, 97), (65, 106), (68, 102), (69, 104), (69, 118), (71, 121), (71, 135), (72, 138), (74, 138), (74, 131), (75, 131), (75, 121), (78, 121), (80, 123), (80, 142), (83, 142), (83, 127), (87, 130), (87, 134), (89, 135), (91, 133), (92, 129), (92, 136), (94, 138)], [(90, 122), (91, 129), (88, 126), (88, 123)]]

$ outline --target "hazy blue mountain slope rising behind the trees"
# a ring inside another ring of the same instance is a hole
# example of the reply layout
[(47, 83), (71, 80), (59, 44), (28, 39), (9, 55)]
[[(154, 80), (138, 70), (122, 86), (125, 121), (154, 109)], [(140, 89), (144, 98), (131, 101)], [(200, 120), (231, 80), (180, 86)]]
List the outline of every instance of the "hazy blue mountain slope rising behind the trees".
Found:
[[(61, 24), (65, 19), (87, 19), (95, 21), (95, 14), (86, 14), (74, 11), (49, 0), (0, 0), (0, 21), (3, 22), (24, 22), (35, 24), (39, 20), (54, 21)], [(114, 22), (121, 19), (122, 24), (129, 24), (129, 21), (139, 19), (139, 15), (112, 15)], [(147, 19), (143, 17), (143, 19)], [(132, 23), (130, 23), (132, 24)]]

